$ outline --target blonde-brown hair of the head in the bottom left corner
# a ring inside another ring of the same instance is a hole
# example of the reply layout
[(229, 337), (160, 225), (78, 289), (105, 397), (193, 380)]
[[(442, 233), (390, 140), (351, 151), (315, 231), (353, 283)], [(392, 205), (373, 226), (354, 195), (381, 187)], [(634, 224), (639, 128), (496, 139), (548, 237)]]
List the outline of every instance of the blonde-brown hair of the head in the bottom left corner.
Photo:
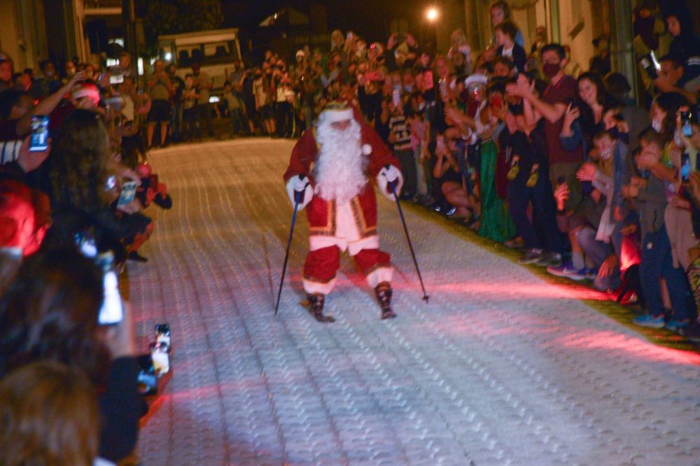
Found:
[(33, 362), (0, 381), (0, 464), (91, 466), (99, 448), (97, 397), (82, 372)]

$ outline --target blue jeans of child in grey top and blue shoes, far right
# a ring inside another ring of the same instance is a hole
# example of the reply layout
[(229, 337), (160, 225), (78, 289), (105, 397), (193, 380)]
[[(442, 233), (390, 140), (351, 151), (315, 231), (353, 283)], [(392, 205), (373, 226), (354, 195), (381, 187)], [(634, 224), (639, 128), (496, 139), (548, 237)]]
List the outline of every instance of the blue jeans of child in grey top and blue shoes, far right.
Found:
[(659, 288), (659, 279), (663, 277), (666, 279), (668, 294), (671, 295), (673, 318), (685, 320), (690, 317), (690, 290), (682, 269), (673, 267), (671, 243), (668, 241), (666, 226), (662, 225), (659, 231), (644, 235), (639, 276), (647, 302), (647, 311), (651, 316), (659, 317), (664, 313)]

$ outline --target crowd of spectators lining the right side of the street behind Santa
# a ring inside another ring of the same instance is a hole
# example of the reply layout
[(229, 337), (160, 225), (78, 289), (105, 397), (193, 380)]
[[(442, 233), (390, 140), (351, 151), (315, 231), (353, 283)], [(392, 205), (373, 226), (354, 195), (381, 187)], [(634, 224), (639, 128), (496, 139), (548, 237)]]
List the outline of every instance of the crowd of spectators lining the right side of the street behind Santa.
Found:
[(688, 18), (650, 1), (635, 10), (640, 103), (611, 72), (605, 35), (584, 71), (543, 28), (526, 51), (496, 1), (478, 54), (461, 30), (442, 51), (411, 34), (368, 43), (333, 31), (330, 51), (302, 48), (289, 65), (268, 51), (237, 70), (228, 107), (241, 132), (296, 136), (329, 101), (352, 101), (400, 160), (402, 199), (522, 248), (523, 264), (640, 304), (637, 325), (698, 341), (700, 42)]

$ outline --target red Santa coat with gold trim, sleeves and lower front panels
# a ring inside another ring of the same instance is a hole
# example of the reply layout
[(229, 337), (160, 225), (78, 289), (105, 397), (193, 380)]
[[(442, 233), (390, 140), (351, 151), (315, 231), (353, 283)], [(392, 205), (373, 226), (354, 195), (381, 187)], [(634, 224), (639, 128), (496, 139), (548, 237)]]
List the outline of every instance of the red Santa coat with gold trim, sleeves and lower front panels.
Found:
[[(377, 234), (377, 199), (374, 197), (372, 180), (377, 178), (384, 165), (390, 164), (400, 169), (400, 164), (391, 150), (388, 150), (384, 141), (381, 141), (372, 127), (360, 122), (363, 149), (369, 146), (372, 150), (367, 164), (367, 183), (360, 194), (351, 199), (351, 209), (360, 236), (368, 237)], [(313, 186), (314, 178), (311, 175), (311, 165), (318, 157), (318, 143), (313, 131), (306, 131), (297, 141), (289, 160), (289, 167), (284, 173), (284, 182), (296, 175), (305, 175)], [(335, 236), (335, 201), (328, 202), (319, 195), (314, 195), (307, 206), (307, 218), (309, 219), (309, 232), (311, 236)]]

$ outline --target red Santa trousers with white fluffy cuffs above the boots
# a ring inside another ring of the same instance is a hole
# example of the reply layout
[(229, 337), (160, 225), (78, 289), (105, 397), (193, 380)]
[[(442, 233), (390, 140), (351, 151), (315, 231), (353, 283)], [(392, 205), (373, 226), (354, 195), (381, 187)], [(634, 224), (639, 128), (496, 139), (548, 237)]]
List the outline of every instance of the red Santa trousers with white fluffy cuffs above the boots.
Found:
[[(391, 281), (393, 267), (391, 255), (379, 249), (361, 249), (352, 256), (367, 284), (374, 288), (383, 281)], [(304, 291), (307, 293), (328, 293), (335, 286), (335, 272), (340, 267), (340, 249), (328, 246), (309, 251), (304, 262)]]

